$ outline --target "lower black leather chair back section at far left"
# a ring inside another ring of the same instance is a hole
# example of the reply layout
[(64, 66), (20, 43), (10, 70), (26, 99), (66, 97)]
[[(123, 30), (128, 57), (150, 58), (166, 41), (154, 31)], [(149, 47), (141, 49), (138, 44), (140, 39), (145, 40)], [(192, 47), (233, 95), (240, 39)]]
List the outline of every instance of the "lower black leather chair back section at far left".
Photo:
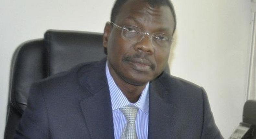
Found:
[(15, 128), (27, 106), (31, 83), (46, 77), (45, 47), (43, 40), (21, 44), (14, 52), (7, 105), (5, 139), (12, 139)]

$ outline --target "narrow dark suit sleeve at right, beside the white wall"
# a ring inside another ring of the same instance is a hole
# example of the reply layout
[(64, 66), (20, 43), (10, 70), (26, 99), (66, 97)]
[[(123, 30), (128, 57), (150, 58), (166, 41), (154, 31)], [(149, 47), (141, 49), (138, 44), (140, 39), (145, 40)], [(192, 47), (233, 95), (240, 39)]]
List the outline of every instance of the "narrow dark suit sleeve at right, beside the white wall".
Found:
[(204, 122), (201, 139), (224, 139), (220, 134), (218, 127), (215, 124), (214, 117), (210, 108), (208, 97), (203, 91), (203, 106), (204, 106)]

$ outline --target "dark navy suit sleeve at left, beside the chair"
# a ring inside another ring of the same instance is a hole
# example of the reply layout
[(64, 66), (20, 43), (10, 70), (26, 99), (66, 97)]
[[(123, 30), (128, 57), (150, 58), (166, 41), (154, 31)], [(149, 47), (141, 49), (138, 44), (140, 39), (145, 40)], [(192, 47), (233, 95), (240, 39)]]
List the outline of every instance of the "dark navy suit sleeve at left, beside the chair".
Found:
[(32, 84), (28, 105), (25, 109), (14, 139), (50, 139), (47, 108), (38, 84)]

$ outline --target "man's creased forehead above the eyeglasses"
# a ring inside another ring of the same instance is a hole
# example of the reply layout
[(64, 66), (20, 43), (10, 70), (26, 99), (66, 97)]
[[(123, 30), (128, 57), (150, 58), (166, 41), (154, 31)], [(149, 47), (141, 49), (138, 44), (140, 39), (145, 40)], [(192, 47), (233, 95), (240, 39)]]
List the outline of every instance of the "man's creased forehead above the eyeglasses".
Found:
[(132, 24), (151, 31), (174, 30), (174, 17), (169, 6), (156, 5), (151, 7), (145, 0), (128, 0), (120, 8), (116, 17), (120, 26)]

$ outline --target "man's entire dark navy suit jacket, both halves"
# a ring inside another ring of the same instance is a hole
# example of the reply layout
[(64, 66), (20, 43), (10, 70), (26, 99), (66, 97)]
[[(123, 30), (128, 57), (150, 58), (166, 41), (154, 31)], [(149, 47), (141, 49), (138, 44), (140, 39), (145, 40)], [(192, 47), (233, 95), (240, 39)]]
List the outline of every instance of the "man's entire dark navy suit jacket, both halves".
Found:
[[(34, 83), (15, 138), (113, 139), (105, 59)], [(149, 139), (221, 139), (203, 88), (163, 73), (150, 82)]]

